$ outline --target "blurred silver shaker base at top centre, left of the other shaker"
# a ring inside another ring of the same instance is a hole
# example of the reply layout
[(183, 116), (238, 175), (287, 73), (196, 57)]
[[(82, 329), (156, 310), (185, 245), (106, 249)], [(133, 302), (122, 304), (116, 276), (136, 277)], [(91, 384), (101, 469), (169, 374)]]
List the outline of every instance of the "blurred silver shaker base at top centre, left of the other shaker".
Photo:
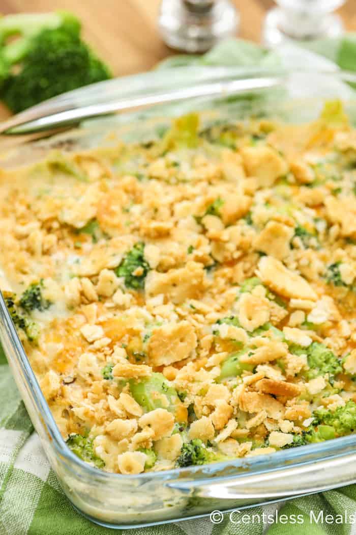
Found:
[(162, 0), (159, 30), (169, 47), (205, 52), (235, 35), (239, 14), (230, 0)]

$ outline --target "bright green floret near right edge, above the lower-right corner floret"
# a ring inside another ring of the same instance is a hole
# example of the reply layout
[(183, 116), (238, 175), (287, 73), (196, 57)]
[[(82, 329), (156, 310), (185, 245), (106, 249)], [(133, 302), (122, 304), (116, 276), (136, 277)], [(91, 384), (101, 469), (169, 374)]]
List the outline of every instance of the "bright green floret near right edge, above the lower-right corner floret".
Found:
[[(304, 351), (305, 352), (305, 351)], [(341, 361), (333, 351), (322, 343), (313, 342), (307, 349), (307, 360), (310, 370), (306, 372), (308, 379), (314, 379), (319, 375), (329, 374), (329, 382), (333, 384), (334, 377), (342, 372)]]

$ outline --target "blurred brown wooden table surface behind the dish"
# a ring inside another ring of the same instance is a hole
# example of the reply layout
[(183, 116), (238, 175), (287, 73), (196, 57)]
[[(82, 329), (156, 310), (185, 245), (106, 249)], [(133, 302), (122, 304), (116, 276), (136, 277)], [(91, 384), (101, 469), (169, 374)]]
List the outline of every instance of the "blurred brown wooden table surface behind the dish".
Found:
[[(265, 13), (273, 0), (234, 0), (240, 11), (239, 36), (260, 41)], [(347, 29), (356, 30), (356, 2), (339, 10)], [(173, 52), (156, 29), (160, 0), (0, 0), (0, 12), (65, 9), (83, 22), (84, 35), (118, 76), (146, 71)]]

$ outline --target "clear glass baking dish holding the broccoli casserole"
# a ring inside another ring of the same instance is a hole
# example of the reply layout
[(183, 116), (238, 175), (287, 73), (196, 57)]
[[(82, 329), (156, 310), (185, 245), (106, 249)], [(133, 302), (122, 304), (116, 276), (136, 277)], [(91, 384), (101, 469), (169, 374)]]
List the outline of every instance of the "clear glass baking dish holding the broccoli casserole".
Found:
[[(198, 67), (194, 67), (197, 75)], [(204, 67), (204, 71), (207, 68)], [(183, 73), (184, 70), (180, 71)], [(189, 70), (186, 70), (186, 75)], [(236, 70), (231, 71), (231, 78)], [(253, 73), (258, 79), (266, 72)], [(211, 69), (211, 77), (215, 73)], [(249, 77), (251, 71), (240, 76)], [(203, 123), (249, 116), (303, 122), (316, 118), (326, 98), (341, 97), (352, 123), (356, 122), (356, 99), (350, 73), (270, 73), (276, 87), (224, 97), (214, 102), (197, 100), (164, 108), (149, 109), (86, 121), (69, 133), (45, 141), (21, 144), (0, 154), (2, 166), (18, 166), (42, 158), (55, 147), (62, 150), (107, 146), (113, 140), (149, 140), (157, 126), (168, 124), (169, 116), (182, 111), (205, 109)], [(155, 73), (134, 79), (154, 80)], [(124, 83), (130, 86), (130, 77)], [(144, 93), (144, 92), (143, 92)], [(108, 135), (110, 133), (110, 135)], [(92, 468), (66, 446), (38, 386), (17, 332), (0, 296), (0, 340), (15, 381), (36, 431), (41, 438), (58, 480), (83, 515), (110, 528), (135, 528), (209, 514), (214, 509), (242, 509), (265, 502), (325, 491), (356, 482), (356, 434), (243, 459), (210, 465), (118, 475)]]

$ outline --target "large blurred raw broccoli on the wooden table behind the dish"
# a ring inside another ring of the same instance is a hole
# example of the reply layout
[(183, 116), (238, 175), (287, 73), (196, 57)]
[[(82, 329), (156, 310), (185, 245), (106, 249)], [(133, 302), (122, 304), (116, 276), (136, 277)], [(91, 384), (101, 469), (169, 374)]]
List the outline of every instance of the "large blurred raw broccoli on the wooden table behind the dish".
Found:
[[(12, 111), (111, 77), (80, 32), (78, 19), (66, 12), (2, 17), (0, 94)], [(16, 39), (7, 43), (10, 36)]]

